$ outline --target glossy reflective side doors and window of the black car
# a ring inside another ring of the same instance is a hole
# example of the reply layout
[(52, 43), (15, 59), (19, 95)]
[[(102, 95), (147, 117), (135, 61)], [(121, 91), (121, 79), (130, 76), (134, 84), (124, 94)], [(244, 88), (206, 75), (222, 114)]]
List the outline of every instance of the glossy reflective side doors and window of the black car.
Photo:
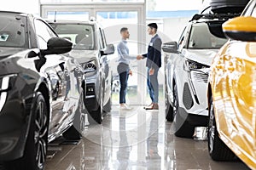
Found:
[[(42, 20), (34, 20), (38, 46), (47, 48), (50, 37), (56, 37), (55, 32)], [(51, 97), (49, 120), (49, 136), (58, 135), (73, 121), (74, 113), (79, 105), (79, 79), (75, 77), (76, 64), (65, 55), (46, 55), (45, 64), (40, 72), (49, 78), (49, 94)]]

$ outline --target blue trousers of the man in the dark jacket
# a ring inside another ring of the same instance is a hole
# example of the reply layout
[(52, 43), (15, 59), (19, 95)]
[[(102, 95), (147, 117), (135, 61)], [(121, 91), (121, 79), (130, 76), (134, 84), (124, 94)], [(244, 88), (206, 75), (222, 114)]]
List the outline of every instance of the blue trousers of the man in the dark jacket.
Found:
[(147, 85), (148, 85), (148, 94), (152, 103), (158, 103), (158, 96), (159, 96), (159, 83), (158, 83), (158, 71), (159, 69), (154, 69), (154, 74), (149, 75), (148, 68), (148, 78), (147, 78)]

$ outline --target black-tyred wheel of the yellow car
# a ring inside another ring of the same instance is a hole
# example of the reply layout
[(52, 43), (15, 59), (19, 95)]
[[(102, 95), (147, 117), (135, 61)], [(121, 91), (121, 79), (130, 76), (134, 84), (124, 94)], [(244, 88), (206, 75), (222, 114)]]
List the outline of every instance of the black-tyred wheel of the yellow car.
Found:
[(214, 161), (236, 160), (235, 154), (219, 139), (216, 127), (212, 97), (210, 99), (209, 123), (208, 123), (208, 150)]

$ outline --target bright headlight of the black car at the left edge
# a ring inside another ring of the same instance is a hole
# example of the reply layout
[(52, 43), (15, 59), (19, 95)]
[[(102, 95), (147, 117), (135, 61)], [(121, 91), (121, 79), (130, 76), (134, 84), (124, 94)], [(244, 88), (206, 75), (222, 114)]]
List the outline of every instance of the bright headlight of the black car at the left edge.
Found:
[(14, 83), (16, 74), (12, 75), (6, 75), (3, 77), (0, 77), (0, 111), (3, 109), (3, 105), (6, 102), (7, 99), (7, 92), (9, 89), (11, 89), (11, 82)]

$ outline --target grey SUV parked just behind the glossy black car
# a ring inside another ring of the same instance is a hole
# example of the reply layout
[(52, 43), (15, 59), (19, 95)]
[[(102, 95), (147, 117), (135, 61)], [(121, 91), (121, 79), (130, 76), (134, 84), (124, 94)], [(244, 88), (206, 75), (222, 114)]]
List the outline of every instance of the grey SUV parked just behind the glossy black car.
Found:
[(73, 42), (70, 54), (78, 59), (86, 76), (85, 106), (93, 122), (101, 123), (103, 113), (111, 110), (112, 72), (108, 54), (114, 53), (107, 44), (104, 30), (96, 20), (48, 20), (60, 37)]

